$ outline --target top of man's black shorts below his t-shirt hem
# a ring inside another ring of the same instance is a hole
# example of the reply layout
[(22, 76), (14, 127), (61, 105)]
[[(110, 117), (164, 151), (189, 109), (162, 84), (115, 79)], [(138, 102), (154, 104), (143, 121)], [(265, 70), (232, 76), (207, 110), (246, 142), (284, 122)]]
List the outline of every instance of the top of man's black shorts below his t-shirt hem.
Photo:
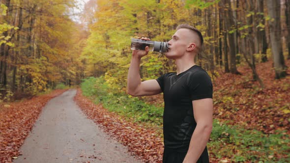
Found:
[[(187, 152), (176, 152), (164, 148), (163, 163), (182, 163)], [(203, 154), (197, 163), (209, 163), (207, 148), (205, 147)]]

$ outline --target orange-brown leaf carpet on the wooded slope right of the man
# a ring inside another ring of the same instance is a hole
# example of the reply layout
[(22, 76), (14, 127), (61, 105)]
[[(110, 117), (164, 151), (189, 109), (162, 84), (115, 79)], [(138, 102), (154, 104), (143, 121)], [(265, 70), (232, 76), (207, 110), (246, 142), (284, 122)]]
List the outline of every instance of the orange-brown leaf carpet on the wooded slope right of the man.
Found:
[[(289, 66), (290, 61), (286, 64)], [(229, 124), (269, 134), (275, 130), (290, 131), (290, 80), (274, 80), (274, 71), (264, 71), (271, 66), (270, 61), (257, 65), (258, 74), (265, 83), (264, 89), (251, 80), (248, 67), (238, 68), (242, 76), (221, 73), (214, 84), (215, 118), (221, 121), (233, 119)]]

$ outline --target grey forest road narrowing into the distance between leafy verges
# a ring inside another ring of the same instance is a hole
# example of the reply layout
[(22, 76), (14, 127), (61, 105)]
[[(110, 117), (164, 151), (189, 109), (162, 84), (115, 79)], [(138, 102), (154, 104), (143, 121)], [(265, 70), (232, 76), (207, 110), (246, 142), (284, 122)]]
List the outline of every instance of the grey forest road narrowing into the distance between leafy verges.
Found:
[(75, 95), (71, 89), (48, 102), (13, 163), (141, 163), (86, 117)]

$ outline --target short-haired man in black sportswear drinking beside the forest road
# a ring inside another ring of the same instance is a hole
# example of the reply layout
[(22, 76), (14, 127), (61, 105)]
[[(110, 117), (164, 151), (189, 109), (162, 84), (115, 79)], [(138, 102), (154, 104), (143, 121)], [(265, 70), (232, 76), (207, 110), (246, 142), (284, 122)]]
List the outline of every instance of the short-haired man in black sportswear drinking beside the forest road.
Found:
[(194, 62), (202, 49), (203, 36), (196, 28), (182, 24), (168, 44), (165, 56), (174, 59), (177, 72), (141, 82), (140, 62), (149, 48), (134, 50), (128, 72), (128, 93), (147, 96), (163, 92), (163, 163), (208, 163), (206, 143), (212, 130), (212, 82)]

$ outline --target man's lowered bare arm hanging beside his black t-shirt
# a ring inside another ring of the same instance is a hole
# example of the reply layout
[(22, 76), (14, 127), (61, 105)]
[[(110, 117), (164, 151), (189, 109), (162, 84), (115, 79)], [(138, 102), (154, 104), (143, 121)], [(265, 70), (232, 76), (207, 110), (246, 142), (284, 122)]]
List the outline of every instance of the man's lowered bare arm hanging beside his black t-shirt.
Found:
[(211, 98), (192, 101), (197, 126), (190, 140), (183, 163), (196, 163), (205, 149), (212, 130), (213, 101)]

